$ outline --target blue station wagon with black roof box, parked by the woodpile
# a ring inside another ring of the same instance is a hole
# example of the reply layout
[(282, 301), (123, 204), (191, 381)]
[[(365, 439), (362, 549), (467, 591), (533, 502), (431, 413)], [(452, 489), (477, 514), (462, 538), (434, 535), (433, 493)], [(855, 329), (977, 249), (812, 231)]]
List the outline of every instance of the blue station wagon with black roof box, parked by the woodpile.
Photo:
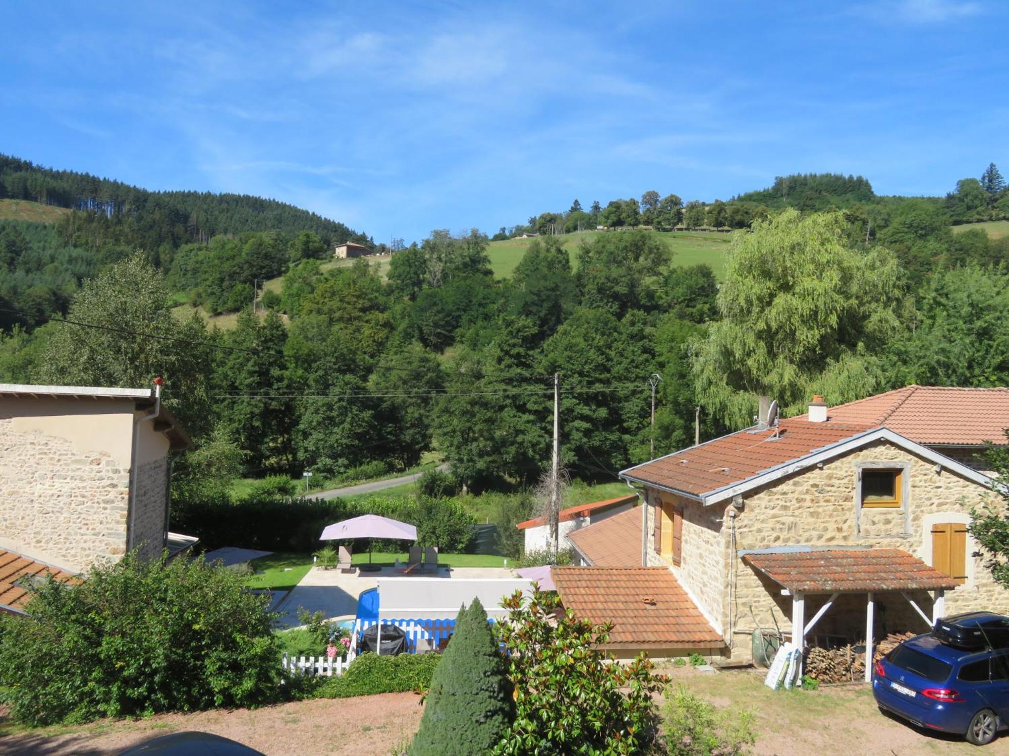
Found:
[(987, 745), (1009, 726), (1009, 648), (1001, 646), (958, 648), (935, 632), (910, 638), (876, 662), (876, 703), (918, 727)]

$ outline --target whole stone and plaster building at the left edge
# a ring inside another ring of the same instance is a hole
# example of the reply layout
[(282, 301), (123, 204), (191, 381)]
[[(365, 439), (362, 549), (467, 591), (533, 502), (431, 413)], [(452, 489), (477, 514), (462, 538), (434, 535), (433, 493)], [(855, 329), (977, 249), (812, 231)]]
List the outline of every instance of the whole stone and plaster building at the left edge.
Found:
[(21, 609), (25, 580), (191, 546), (169, 532), (172, 453), (190, 445), (159, 385), (0, 384), (0, 610)]

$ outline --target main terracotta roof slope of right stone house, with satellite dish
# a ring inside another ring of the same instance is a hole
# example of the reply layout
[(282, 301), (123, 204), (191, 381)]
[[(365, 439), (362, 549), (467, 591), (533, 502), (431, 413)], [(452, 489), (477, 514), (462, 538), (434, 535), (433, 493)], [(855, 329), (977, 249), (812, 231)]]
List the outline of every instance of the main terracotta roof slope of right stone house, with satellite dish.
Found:
[(634, 480), (699, 496), (871, 430), (840, 422), (782, 420), (775, 430), (740, 430), (624, 471)]

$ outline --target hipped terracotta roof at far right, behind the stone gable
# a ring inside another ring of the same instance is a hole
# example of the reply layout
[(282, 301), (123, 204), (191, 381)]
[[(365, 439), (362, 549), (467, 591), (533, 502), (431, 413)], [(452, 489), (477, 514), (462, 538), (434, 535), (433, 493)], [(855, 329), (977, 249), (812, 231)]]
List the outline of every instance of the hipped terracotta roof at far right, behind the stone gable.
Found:
[(906, 386), (830, 407), (827, 422), (885, 425), (926, 445), (1007, 444), (1009, 388)]

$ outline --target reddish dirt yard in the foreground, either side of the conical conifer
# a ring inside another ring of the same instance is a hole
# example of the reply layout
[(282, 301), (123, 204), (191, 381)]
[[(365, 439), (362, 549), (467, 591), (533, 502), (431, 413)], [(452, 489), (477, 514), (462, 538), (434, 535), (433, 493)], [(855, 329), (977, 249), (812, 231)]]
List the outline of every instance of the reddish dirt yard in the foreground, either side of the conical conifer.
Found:
[[(754, 753), (760, 756), (1009, 754), (1009, 735), (977, 749), (962, 739), (923, 733), (884, 717), (864, 684), (776, 692), (764, 687), (762, 675), (752, 671), (704, 674), (689, 667), (662, 671), (673, 677), (673, 684), (686, 684), (720, 708), (751, 709), (757, 717)], [(0, 738), (0, 755), (111, 756), (171, 732), (198, 730), (232, 738), (271, 756), (387, 756), (416, 732), (422, 713), (418, 702), (414, 694), (387, 694), (34, 730)]]

